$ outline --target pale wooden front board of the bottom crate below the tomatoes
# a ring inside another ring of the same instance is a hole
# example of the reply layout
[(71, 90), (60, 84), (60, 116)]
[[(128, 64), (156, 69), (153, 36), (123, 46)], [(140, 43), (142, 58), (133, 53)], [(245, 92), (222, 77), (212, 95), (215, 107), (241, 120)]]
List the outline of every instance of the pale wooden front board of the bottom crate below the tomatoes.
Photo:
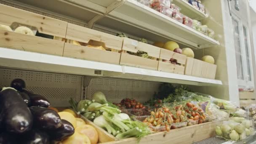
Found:
[[(215, 136), (215, 126), (221, 122), (209, 122), (199, 125), (153, 133), (141, 139), (139, 144), (192, 144)], [(136, 144), (137, 139), (129, 138), (104, 144)]]

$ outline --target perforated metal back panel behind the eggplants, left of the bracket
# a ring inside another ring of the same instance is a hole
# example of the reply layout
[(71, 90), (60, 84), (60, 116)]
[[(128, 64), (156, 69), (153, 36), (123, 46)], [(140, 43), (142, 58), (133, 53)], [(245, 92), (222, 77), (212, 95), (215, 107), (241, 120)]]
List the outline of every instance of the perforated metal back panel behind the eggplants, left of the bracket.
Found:
[(54, 107), (69, 106), (71, 97), (81, 99), (82, 76), (0, 69), (0, 87), (10, 86), (15, 78), (23, 79), (27, 90), (45, 96)]

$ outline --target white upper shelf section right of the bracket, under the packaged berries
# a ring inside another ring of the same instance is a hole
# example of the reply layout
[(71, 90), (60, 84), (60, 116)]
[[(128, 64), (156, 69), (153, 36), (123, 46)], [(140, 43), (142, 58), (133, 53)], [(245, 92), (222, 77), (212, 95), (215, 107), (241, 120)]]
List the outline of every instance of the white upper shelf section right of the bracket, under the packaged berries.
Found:
[[(219, 45), (219, 42), (187, 27), (136, 0), (128, 0), (98, 22), (99, 25), (131, 35), (141, 35), (149, 40), (160, 37), (176, 40), (193, 48)], [(150, 33), (150, 34), (149, 34)]]

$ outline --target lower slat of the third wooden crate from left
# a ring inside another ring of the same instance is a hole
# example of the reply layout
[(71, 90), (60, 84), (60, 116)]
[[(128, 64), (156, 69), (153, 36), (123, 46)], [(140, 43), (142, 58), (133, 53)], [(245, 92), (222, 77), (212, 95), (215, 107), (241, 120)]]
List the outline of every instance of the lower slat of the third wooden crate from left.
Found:
[(121, 53), (120, 65), (157, 70), (158, 61), (128, 53)]

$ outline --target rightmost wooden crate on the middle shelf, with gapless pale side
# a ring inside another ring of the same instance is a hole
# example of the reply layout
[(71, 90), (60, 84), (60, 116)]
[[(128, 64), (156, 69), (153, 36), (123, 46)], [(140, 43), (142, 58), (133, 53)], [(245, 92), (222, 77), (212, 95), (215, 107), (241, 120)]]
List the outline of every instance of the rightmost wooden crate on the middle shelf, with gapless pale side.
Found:
[(216, 69), (216, 64), (187, 57), (185, 75), (215, 79)]

